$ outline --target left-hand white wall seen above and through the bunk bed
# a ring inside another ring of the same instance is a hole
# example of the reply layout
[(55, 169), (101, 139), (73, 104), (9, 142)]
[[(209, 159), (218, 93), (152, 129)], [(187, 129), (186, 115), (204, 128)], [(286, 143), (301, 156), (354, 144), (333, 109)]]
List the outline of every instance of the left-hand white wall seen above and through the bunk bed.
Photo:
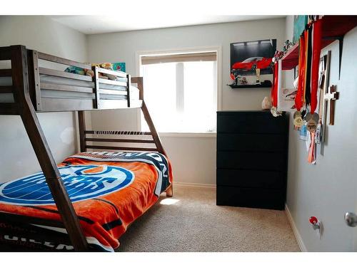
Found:
[[(44, 16), (0, 16), (0, 46), (22, 44), (87, 61), (86, 36)], [(38, 114), (56, 162), (76, 152), (74, 112)], [(19, 116), (0, 115), (0, 182), (40, 170)]]

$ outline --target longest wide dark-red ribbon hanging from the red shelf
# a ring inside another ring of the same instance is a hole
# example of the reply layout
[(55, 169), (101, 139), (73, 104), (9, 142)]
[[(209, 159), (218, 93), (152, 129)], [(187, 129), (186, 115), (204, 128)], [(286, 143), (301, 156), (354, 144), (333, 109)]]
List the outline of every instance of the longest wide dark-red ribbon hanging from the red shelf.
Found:
[(312, 63), (311, 63), (311, 109), (313, 114), (317, 107), (318, 91), (318, 66), (320, 64), (321, 53), (322, 20), (318, 19), (313, 23), (312, 34)]

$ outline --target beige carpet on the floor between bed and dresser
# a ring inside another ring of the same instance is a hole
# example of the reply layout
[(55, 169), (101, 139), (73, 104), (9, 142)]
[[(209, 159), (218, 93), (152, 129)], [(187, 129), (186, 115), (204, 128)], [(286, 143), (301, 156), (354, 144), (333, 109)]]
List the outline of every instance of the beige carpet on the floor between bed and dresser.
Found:
[(216, 206), (216, 189), (195, 187), (163, 194), (120, 242), (117, 251), (299, 251), (284, 211)]

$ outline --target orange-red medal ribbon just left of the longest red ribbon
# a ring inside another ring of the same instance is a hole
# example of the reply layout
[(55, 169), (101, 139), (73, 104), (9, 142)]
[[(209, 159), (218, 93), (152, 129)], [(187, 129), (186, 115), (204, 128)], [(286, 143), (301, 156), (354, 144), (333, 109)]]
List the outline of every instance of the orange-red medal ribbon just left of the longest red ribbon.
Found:
[(305, 37), (300, 36), (299, 40), (300, 53), (298, 56), (298, 92), (295, 97), (296, 110), (300, 111), (303, 107), (303, 88), (305, 83)]

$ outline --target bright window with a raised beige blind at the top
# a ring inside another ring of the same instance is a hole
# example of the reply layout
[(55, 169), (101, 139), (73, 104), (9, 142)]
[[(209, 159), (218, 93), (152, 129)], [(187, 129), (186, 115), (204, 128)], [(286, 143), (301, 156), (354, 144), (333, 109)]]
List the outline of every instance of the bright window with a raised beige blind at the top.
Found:
[[(141, 56), (144, 99), (159, 132), (216, 132), (217, 53)], [(141, 130), (148, 130), (141, 120)]]

